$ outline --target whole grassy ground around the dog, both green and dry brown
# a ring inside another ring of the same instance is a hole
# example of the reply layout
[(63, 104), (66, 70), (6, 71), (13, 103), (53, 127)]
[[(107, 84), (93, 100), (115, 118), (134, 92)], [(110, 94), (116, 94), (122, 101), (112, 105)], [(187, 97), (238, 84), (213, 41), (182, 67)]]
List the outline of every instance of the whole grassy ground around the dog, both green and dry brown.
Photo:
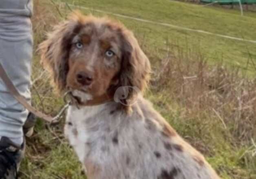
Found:
[[(203, 8), (168, 0), (35, 0), (35, 49), (45, 32), (71, 12), (102, 10), (256, 40), (256, 16), (228, 9)], [(95, 9), (95, 10), (93, 10)], [(108, 14), (109, 15), (109, 14)], [(223, 179), (255, 179), (256, 44), (109, 15), (130, 28), (152, 63), (154, 73), (146, 98), (178, 133), (201, 151)], [(33, 61), (33, 105), (57, 114), (64, 104), (49, 85), (38, 54)], [(63, 136), (63, 123), (38, 120), (27, 139), (22, 179), (85, 179)]]

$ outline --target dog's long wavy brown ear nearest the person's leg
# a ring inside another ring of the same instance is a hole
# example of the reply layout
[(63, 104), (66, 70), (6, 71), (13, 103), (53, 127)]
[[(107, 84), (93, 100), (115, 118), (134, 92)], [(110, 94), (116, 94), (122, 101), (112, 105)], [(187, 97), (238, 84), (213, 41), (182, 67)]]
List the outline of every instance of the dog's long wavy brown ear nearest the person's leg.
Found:
[(80, 13), (73, 13), (68, 20), (53, 28), (47, 39), (39, 45), (42, 65), (53, 75), (53, 82), (58, 92), (66, 88), (68, 58), (72, 39), (83, 26)]

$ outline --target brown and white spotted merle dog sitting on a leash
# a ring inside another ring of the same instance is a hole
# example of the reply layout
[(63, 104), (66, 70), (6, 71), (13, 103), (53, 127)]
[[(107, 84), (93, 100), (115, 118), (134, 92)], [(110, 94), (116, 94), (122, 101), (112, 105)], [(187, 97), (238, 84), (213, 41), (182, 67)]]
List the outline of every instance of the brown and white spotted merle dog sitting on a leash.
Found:
[(88, 179), (220, 179), (143, 98), (150, 62), (124, 25), (75, 12), (40, 44), (68, 108), (64, 133)]

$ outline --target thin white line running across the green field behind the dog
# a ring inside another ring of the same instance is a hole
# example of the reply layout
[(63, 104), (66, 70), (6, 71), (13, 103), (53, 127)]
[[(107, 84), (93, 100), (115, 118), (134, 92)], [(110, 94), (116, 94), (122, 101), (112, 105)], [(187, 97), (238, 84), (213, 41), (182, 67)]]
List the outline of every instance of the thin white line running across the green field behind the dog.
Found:
[(247, 42), (251, 42), (251, 43), (256, 44), (255, 40), (241, 39), (241, 38), (238, 38), (238, 37), (232, 37), (232, 36), (228, 36), (228, 35), (221, 35), (221, 34), (211, 33), (211, 32), (207, 32), (207, 31), (203, 31), (203, 30), (198, 30), (198, 29), (181, 27), (181, 26), (176, 26), (176, 25), (167, 24), (167, 23), (161, 23), (161, 22), (155, 22), (155, 21), (151, 21), (151, 20), (141, 19), (141, 18), (137, 18), (137, 17), (131, 17), (131, 16), (128, 16), (128, 15), (121, 15), (121, 14), (117, 14), (117, 13), (111, 13), (111, 12), (107, 12), (107, 11), (102, 11), (102, 10), (98, 10), (98, 9), (92, 9), (92, 8), (83, 7), (83, 6), (77, 6), (77, 5), (73, 5), (73, 4), (68, 4), (68, 5), (72, 6), (72, 7), (81, 8), (81, 9), (96, 11), (96, 12), (99, 12), (99, 13), (106, 13), (106, 14), (117, 16), (117, 17), (123, 17), (123, 18), (126, 18), (126, 19), (137, 20), (137, 21), (140, 21), (140, 22), (146, 22), (146, 23), (150, 23), (150, 24), (167, 26), (167, 27), (172, 27), (172, 28), (181, 29), (181, 30), (185, 30), (185, 31), (192, 31), (192, 32), (197, 32), (197, 33), (203, 33), (203, 34), (207, 34), (207, 35), (215, 35), (215, 36), (226, 38), (226, 39), (233, 39), (233, 40), (238, 40), (238, 41), (247, 41)]

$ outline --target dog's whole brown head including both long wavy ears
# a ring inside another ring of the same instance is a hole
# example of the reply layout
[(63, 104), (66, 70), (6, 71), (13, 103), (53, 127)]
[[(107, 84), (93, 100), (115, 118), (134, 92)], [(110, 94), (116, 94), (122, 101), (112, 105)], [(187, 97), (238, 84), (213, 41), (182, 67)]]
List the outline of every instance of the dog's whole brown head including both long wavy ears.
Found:
[(121, 99), (126, 105), (136, 96), (133, 87), (142, 92), (149, 80), (150, 63), (134, 35), (108, 18), (75, 12), (39, 49), (58, 91), (70, 90), (81, 104), (113, 99), (119, 87), (128, 86)]

